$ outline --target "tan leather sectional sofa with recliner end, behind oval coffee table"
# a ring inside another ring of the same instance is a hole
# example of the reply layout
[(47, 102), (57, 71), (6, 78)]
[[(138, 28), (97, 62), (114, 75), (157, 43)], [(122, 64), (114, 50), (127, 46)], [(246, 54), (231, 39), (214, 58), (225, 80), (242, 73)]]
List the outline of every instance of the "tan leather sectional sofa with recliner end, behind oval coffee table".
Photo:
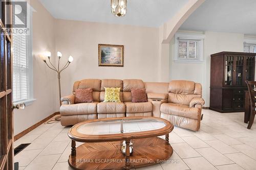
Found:
[[(120, 87), (120, 103), (103, 102), (104, 87)], [(75, 102), (75, 90), (93, 88), (93, 103)], [(132, 88), (145, 88), (148, 102), (133, 103)], [(61, 98), (61, 125), (75, 125), (96, 118), (155, 116), (175, 126), (198, 131), (200, 128), (202, 86), (191, 81), (147, 83), (137, 79), (84, 79), (76, 81), (73, 94)]]

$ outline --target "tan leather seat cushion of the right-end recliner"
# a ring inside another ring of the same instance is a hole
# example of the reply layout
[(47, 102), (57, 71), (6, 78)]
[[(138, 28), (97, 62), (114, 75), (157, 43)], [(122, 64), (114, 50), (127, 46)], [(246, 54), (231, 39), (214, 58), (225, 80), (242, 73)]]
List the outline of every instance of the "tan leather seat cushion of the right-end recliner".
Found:
[(178, 115), (182, 117), (188, 117), (193, 119), (200, 119), (201, 109), (191, 108), (187, 105), (180, 105), (175, 103), (163, 103), (160, 107), (161, 113)]

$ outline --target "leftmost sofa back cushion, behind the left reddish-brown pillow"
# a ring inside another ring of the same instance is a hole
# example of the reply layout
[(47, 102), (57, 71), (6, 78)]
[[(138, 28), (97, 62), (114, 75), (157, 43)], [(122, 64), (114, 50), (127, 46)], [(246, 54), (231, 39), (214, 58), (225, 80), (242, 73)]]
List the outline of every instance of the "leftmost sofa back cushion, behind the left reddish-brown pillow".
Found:
[(99, 79), (83, 79), (80, 81), (76, 81), (73, 86), (73, 94), (75, 94), (76, 89), (92, 88), (93, 101), (99, 102), (100, 84), (101, 84), (101, 80)]

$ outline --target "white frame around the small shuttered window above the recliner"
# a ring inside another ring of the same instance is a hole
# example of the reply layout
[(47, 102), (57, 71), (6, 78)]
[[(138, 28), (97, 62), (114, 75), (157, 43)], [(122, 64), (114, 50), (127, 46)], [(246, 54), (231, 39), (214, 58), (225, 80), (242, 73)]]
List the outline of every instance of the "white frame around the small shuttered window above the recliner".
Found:
[[(176, 33), (175, 34), (175, 48), (174, 48), (174, 61), (175, 62), (191, 62), (191, 63), (198, 63), (198, 62), (203, 62), (204, 61), (204, 35), (203, 34), (189, 34), (189, 33)], [(198, 40), (200, 41), (200, 60), (197, 59), (191, 59), (191, 58), (186, 58), (186, 59), (181, 59), (179, 58), (179, 39), (184, 39), (184, 40)]]

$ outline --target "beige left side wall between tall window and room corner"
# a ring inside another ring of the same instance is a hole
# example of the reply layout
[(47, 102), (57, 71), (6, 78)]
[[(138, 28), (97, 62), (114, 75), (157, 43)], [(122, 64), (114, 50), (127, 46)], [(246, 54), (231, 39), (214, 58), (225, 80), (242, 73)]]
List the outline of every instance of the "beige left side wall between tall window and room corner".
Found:
[[(55, 53), (54, 18), (37, 0), (30, 1), (33, 12), (33, 83), (36, 101), (25, 110), (14, 110), (14, 135), (40, 122), (56, 111), (57, 77), (39, 57), (45, 51)], [(54, 58), (53, 58), (54, 59)]]

